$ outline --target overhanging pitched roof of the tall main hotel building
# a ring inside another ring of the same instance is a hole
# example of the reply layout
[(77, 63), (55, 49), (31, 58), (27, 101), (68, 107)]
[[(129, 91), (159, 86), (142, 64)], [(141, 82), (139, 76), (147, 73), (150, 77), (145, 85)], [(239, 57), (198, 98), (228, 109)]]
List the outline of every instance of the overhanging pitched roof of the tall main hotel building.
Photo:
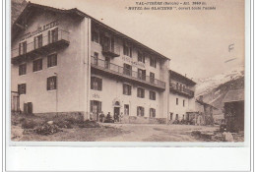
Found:
[[(148, 49), (149, 51), (157, 54), (158, 56), (160, 56), (163, 59), (170, 60), (170, 58), (167, 58), (167, 57), (163, 56), (162, 54), (160, 54), (159, 52), (155, 51), (154, 49), (152, 49), (152, 48), (144, 45), (143, 43), (141, 43), (141, 42), (139, 42), (139, 41), (129, 37), (128, 35), (125, 35), (124, 33), (120, 32), (120, 31), (117, 31), (116, 29), (112, 29), (112, 28), (108, 27), (107, 25), (97, 21), (95, 18), (93, 18), (93, 17), (89, 16), (88, 14), (78, 10), (77, 8), (73, 8), (73, 9), (69, 9), (69, 10), (63, 10), (63, 9), (57, 9), (57, 8), (53, 8), (53, 7), (49, 7), (49, 6), (43, 6), (43, 5), (31, 3), (30, 1), (27, 4), (27, 6), (24, 9), (24, 11), (21, 13), (21, 15), (17, 18), (17, 20), (12, 25), (12, 38), (13, 38), (13, 35), (15, 35), (15, 31), (20, 28), (19, 27), (19, 21), (22, 20), (23, 17), (27, 15), (28, 11), (32, 10), (32, 8), (39, 8), (39, 9), (42, 9), (42, 10), (49, 10), (49, 11), (53, 11), (53, 12), (57, 12), (57, 13), (69, 14), (69, 15), (78, 16), (78, 17), (82, 17), (82, 18), (84, 18), (84, 17), (90, 18), (90, 19), (92, 19), (92, 21), (96, 22), (96, 24), (98, 24), (98, 25), (100, 25), (100, 26), (102, 26), (102, 27), (104, 27), (106, 29), (109, 29), (109, 30), (113, 31), (116, 34), (118, 34), (118, 35), (120, 35), (122, 37), (125, 37), (125, 38), (127, 38), (128, 40), (130, 40), (132, 42), (135, 42), (139, 46)], [(16, 31), (16, 32), (19, 32), (19, 31)]]

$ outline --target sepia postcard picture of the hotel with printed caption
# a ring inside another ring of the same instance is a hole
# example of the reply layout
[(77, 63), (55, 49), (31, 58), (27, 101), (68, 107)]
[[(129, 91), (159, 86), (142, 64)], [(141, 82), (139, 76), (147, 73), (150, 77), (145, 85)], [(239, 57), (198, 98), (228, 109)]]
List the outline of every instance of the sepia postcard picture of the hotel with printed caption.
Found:
[(12, 0), (11, 142), (244, 143), (244, 9)]

